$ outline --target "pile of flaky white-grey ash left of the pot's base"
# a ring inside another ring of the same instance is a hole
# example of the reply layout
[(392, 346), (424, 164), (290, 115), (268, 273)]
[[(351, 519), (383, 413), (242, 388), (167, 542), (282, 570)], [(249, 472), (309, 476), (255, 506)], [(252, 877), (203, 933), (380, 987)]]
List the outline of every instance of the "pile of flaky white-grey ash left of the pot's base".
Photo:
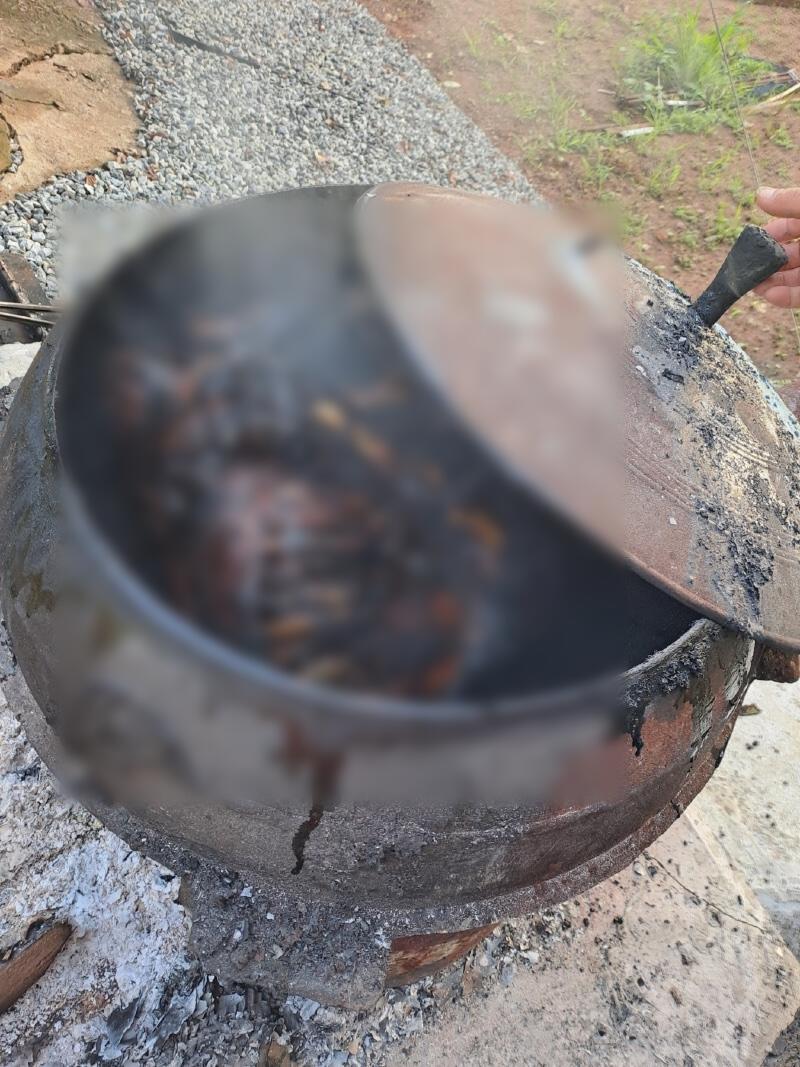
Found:
[[(0, 670), (10, 668), (5, 650)], [(189, 920), (178, 879), (60, 795), (1, 694), (0, 703), (0, 947), (37, 922), (73, 927), (35, 994), (0, 1016), (0, 1048), (4, 1063), (46, 1049), (37, 1062), (82, 1064), (108, 1045), (107, 1019), (131, 1005), (130, 1033), (142, 1024), (146, 1041), (190, 971)]]

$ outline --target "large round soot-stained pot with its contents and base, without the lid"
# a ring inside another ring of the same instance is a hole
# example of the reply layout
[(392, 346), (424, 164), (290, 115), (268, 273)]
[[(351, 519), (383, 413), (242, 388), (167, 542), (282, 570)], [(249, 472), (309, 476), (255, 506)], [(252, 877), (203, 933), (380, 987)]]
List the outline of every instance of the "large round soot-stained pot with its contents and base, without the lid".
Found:
[(442, 404), (364, 193), (159, 238), (51, 332), (0, 450), (32, 742), (182, 874), (210, 970), (351, 1006), (628, 863), (767, 663)]

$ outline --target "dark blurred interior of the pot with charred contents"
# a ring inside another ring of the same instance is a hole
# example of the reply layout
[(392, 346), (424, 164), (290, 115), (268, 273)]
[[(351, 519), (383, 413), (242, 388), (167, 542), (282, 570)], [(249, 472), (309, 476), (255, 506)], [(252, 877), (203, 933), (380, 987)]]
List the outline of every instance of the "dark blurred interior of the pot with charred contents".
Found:
[(93, 520), (176, 611), (317, 683), (499, 698), (669, 644), (695, 616), (502, 476), (415, 376), (352, 198), (226, 207), (111, 278), (57, 407)]

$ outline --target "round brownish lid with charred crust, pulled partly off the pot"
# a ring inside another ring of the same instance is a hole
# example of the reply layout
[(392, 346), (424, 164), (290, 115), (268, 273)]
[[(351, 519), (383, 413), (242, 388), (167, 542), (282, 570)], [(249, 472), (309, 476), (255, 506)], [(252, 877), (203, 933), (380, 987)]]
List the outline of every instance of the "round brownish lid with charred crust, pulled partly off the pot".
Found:
[(724, 331), (541, 208), (395, 184), (356, 228), (419, 369), (511, 477), (700, 614), (800, 650), (800, 428)]

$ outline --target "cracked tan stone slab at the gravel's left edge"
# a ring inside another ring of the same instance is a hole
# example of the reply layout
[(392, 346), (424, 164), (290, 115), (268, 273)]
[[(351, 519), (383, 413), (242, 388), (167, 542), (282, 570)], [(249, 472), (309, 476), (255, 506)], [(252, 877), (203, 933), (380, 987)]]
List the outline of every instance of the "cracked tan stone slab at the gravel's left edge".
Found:
[(0, 0), (0, 202), (134, 150), (135, 130), (89, 0)]

